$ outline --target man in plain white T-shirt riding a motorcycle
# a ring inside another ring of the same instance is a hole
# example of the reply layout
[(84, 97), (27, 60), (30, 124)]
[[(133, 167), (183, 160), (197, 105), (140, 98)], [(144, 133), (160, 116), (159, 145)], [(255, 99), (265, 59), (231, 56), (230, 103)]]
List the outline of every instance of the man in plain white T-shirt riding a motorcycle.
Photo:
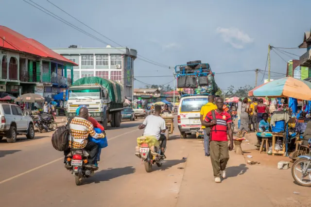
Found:
[(164, 134), (166, 131), (165, 121), (160, 116), (161, 106), (155, 105), (155, 114), (149, 115), (143, 121), (141, 125), (138, 126), (138, 129), (145, 129), (144, 136), (153, 136), (157, 140), (162, 141), (161, 143), (161, 155), (164, 155), (164, 150), (166, 147), (166, 137)]

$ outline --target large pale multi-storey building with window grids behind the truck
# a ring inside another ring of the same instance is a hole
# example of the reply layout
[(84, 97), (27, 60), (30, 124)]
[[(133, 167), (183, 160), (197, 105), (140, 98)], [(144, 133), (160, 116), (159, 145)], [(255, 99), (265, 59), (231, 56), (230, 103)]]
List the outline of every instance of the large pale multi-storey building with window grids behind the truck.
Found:
[(110, 46), (83, 48), (76, 45), (52, 50), (79, 65), (73, 67), (73, 81), (91, 76), (118, 81), (124, 88), (124, 95), (132, 98), (136, 50)]

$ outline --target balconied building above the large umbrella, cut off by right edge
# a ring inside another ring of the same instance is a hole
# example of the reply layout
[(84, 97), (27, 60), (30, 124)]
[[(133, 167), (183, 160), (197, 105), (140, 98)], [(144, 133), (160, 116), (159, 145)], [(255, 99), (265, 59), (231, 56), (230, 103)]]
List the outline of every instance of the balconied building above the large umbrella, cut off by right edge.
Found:
[[(305, 32), (303, 42), (298, 46), (299, 48), (306, 48), (307, 52), (299, 57), (299, 66), (301, 67), (300, 76), (301, 79), (311, 77), (311, 32)], [(298, 74), (299, 76), (299, 74)], [(308, 77), (306, 77), (308, 76)]]

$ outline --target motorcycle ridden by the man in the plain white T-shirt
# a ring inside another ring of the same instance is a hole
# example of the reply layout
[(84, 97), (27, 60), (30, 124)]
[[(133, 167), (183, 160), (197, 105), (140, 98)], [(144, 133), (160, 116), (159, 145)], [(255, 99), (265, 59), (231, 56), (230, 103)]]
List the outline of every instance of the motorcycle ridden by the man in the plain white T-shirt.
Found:
[[(146, 138), (142, 137), (140, 140), (143, 142)], [(165, 152), (165, 149), (164, 149)], [(152, 166), (156, 165), (157, 167), (161, 167), (163, 164), (164, 156), (161, 155), (161, 146), (155, 147), (149, 145), (147, 143), (141, 143), (139, 147), (136, 147), (136, 156), (141, 158), (141, 162), (145, 166), (145, 170), (147, 173), (152, 171)]]

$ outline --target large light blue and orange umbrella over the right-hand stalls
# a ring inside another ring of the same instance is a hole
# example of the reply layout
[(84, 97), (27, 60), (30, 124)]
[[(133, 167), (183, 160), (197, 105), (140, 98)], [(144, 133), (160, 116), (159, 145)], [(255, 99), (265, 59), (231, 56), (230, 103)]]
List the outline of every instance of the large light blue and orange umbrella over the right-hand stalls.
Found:
[(248, 92), (249, 96), (291, 97), (311, 101), (311, 83), (293, 77), (267, 82)]

